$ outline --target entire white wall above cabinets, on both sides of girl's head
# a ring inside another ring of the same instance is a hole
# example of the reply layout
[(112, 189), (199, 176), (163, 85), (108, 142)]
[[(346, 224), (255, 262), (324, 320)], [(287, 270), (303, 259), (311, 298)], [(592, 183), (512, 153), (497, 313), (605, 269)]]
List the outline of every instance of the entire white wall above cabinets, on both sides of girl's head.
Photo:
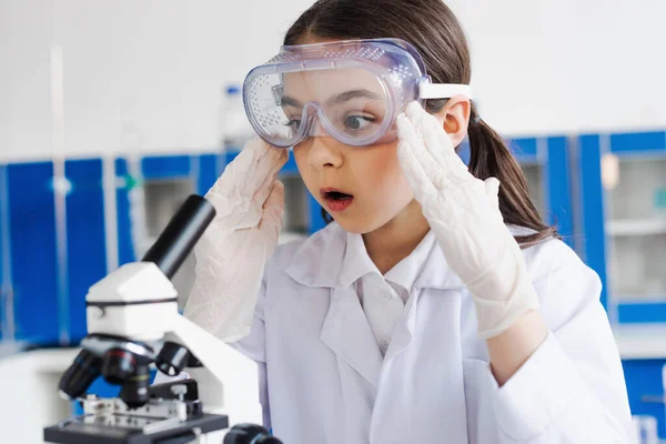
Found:
[[(456, 0), (483, 117), (506, 135), (666, 128), (666, 2)], [(276, 52), (311, 0), (0, 0), (0, 159), (216, 145), (220, 89)]]

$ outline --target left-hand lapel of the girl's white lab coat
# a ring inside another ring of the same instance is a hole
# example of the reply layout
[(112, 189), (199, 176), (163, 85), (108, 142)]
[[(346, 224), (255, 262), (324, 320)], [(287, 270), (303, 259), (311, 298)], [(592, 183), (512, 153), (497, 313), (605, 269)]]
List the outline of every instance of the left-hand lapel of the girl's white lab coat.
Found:
[(331, 306), (320, 339), (375, 387), (382, 354), (353, 286), (331, 289)]

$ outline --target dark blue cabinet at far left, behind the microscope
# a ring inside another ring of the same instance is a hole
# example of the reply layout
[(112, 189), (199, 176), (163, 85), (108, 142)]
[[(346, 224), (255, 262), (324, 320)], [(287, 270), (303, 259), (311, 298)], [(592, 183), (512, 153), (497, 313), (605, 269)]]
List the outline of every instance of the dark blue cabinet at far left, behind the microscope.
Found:
[(6, 280), (13, 287), (16, 339), (28, 343), (67, 344), (83, 337), (88, 287), (107, 272), (101, 161), (68, 160), (64, 174), (65, 254), (59, 255), (53, 163), (17, 163), (6, 171), (4, 242), (11, 261)]

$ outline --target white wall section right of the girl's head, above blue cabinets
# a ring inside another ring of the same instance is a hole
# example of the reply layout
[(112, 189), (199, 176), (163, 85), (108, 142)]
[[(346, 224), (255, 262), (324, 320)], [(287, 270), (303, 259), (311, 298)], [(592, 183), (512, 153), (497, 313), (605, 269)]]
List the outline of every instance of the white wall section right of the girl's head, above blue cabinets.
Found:
[(481, 111), (505, 133), (666, 128), (663, 0), (473, 0)]

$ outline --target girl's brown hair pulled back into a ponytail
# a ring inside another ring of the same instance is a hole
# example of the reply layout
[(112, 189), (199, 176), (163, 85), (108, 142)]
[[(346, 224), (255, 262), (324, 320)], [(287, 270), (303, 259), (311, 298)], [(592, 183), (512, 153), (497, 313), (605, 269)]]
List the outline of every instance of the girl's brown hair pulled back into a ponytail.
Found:
[[(465, 34), (443, 0), (319, 0), (291, 26), (284, 44), (299, 44), (309, 37), (321, 39), (397, 38), (421, 53), (435, 83), (470, 83), (472, 69)], [(446, 99), (430, 99), (426, 110), (436, 113)], [(470, 172), (485, 180), (497, 178), (500, 211), (509, 224), (534, 230), (516, 236), (523, 246), (547, 238), (558, 238), (543, 223), (529, 199), (521, 167), (502, 138), (481, 120), (474, 103), (468, 127)], [(322, 209), (324, 219), (331, 216)]]

